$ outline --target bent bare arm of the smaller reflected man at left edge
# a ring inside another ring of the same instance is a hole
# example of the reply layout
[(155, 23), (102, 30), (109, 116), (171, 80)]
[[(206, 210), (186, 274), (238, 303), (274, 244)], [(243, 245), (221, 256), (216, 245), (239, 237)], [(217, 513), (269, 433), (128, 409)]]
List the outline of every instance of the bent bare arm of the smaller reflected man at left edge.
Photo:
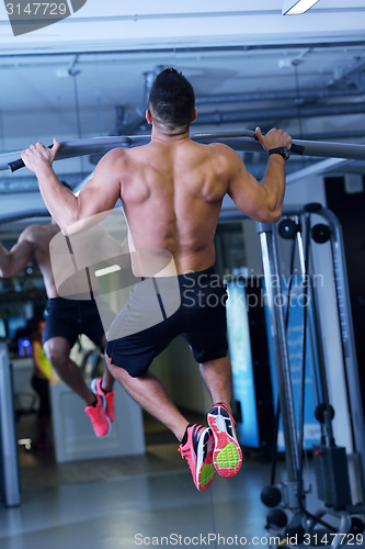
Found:
[(32, 259), (35, 248), (30, 239), (30, 228), (23, 231), (9, 251), (0, 242), (0, 277), (9, 278), (23, 270)]

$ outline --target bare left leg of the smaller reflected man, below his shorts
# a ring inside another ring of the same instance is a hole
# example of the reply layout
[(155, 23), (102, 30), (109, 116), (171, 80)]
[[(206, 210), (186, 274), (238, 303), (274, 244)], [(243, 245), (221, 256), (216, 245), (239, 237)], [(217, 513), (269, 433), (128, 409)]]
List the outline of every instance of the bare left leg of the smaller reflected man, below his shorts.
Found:
[(69, 358), (70, 344), (65, 337), (53, 337), (44, 344), (45, 354), (60, 379), (90, 406), (95, 395), (85, 384), (80, 368)]

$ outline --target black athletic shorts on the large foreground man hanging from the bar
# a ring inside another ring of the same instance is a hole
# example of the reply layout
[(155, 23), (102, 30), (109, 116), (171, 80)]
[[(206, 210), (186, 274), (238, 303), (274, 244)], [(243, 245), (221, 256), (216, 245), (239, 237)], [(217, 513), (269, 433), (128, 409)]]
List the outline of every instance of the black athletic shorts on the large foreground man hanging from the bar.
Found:
[[(111, 326), (105, 351), (114, 366), (124, 368), (134, 378), (145, 374), (153, 358), (179, 335), (187, 340), (195, 360), (199, 363), (227, 356), (227, 292), (214, 268), (180, 274), (175, 279), (179, 282), (180, 306), (178, 305), (170, 316), (164, 314), (163, 300), (159, 299), (164, 317), (162, 322), (113, 340), (110, 340), (113, 324)], [(160, 278), (155, 280), (158, 285), (161, 284)], [(137, 283), (130, 292), (130, 298), (121, 312), (127, 318), (124, 324), (127, 324), (130, 317), (144, 315), (140, 304), (148, 302), (148, 296), (142, 295), (139, 285)], [(142, 299), (138, 300), (138, 293)]]

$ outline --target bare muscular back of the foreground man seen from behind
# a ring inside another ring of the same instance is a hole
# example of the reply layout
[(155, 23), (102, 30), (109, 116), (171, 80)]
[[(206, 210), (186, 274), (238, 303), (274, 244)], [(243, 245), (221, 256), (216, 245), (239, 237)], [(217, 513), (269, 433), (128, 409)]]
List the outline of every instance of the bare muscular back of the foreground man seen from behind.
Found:
[(229, 182), (225, 148), (184, 138), (121, 152), (121, 197), (134, 245), (169, 250), (178, 273), (214, 264)]

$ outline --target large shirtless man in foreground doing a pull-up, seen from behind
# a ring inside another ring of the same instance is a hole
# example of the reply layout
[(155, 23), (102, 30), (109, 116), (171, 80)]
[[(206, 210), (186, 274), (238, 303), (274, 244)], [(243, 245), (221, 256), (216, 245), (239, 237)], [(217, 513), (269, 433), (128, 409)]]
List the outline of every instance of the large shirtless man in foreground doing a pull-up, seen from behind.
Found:
[[(228, 193), (239, 210), (253, 220), (276, 222), (285, 189), (287, 150), (282, 147), (290, 148), (292, 138), (281, 130), (271, 130), (263, 136), (256, 128), (263, 148), (271, 150), (260, 184), (229, 147), (191, 141), (190, 123), (196, 117), (194, 104), (190, 82), (174, 69), (162, 71), (151, 88), (146, 111), (147, 122), (152, 125), (151, 142), (106, 154), (78, 198), (60, 184), (53, 171), (59, 149), (56, 139), (52, 149), (39, 143), (31, 145), (22, 158), (37, 176), (44, 201), (64, 234), (81, 220), (111, 210), (121, 198), (136, 250), (159, 248), (171, 253), (181, 292), (179, 310), (137, 334), (113, 340), (109, 334), (106, 354), (114, 378), (181, 441), (182, 457), (202, 491), (213, 482), (216, 472), (221, 477), (236, 474), (242, 460), (230, 411), (226, 295), (223, 284), (216, 283), (213, 269), (221, 202)], [(158, 277), (153, 280), (159, 284)], [(216, 299), (210, 300), (212, 295)], [(179, 334), (190, 343), (213, 399), (208, 427), (187, 424), (164, 386), (148, 371), (152, 358)]]

